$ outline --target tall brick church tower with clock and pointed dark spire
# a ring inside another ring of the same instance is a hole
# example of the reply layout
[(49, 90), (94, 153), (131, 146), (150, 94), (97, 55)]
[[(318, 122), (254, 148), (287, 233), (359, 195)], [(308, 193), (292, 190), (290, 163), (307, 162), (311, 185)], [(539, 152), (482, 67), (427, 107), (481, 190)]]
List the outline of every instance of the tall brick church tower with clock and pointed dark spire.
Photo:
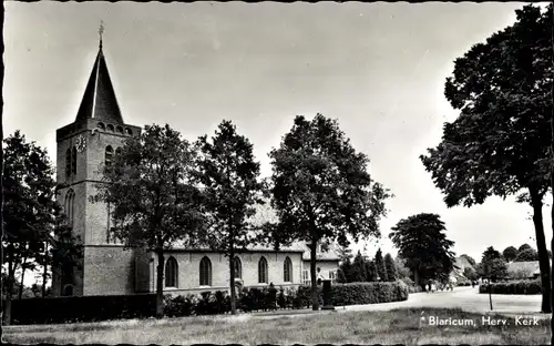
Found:
[(138, 126), (125, 124), (100, 47), (75, 121), (57, 131), (57, 181), (63, 184), (58, 201), (63, 205), (73, 236), (84, 245), (81, 265), (53, 271), (57, 296), (130, 294), (136, 292), (134, 252), (111, 238), (110, 207), (92, 203), (102, 166), (111, 164), (125, 139)]

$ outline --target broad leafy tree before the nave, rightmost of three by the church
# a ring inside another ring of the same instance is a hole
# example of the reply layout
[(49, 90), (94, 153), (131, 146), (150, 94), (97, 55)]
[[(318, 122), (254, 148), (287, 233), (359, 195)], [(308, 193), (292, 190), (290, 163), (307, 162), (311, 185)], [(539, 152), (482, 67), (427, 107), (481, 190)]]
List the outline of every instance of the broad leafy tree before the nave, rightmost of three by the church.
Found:
[(384, 200), (390, 195), (371, 179), (368, 159), (356, 152), (338, 122), (321, 114), (311, 121), (296, 116), (280, 147), (269, 156), (271, 204), (280, 224), (277, 236), (281, 242), (304, 241), (308, 245), (312, 308), (318, 309), (318, 244), (348, 246), (347, 235), (355, 242), (378, 236)]

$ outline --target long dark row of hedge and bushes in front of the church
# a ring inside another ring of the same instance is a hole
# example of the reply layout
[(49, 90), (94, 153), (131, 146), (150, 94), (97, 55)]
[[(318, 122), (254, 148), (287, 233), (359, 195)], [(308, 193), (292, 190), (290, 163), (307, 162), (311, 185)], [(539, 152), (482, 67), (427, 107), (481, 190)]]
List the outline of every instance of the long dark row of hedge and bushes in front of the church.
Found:
[[(334, 305), (375, 304), (406, 301), (409, 286), (402, 282), (350, 283), (331, 287)], [(318, 287), (319, 303), (322, 289)], [(298, 289), (244, 288), (237, 295), (237, 309), (243, 312), (277, 308), (305, 308), (311, 306), (311, 288)], [(55, 324), (98, 322), (155, 316), (155, 294), (44, 297), (12, 302), (12, 324)], [(227, 292), (204, 292), (199, 295), (164, 297), (164, 314), (168, 317), (214, 315), (230, 312)]]

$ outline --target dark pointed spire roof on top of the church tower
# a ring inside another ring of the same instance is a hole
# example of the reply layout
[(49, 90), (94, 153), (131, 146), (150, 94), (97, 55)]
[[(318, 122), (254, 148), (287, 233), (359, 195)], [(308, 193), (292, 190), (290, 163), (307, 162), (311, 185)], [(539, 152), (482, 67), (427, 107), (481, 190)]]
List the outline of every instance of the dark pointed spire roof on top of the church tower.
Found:
[(102, 51), (102, 41), (75, 122), (86, 121), (88, 119), (123, 123), (115, 91), (107, 72), (104, 52)]

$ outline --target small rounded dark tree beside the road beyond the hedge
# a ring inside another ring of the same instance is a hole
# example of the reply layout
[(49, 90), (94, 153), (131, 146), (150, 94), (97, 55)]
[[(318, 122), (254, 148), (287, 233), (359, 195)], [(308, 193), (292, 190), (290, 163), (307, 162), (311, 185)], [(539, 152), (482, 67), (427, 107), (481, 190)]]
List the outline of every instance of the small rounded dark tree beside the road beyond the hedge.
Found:
[(414, 282), (445, 279), (454, 268), (454, 242), (447, 238), (447, 227), (437, 214), (417, 214), (392, 227), (389, 237), (412, 269)]

